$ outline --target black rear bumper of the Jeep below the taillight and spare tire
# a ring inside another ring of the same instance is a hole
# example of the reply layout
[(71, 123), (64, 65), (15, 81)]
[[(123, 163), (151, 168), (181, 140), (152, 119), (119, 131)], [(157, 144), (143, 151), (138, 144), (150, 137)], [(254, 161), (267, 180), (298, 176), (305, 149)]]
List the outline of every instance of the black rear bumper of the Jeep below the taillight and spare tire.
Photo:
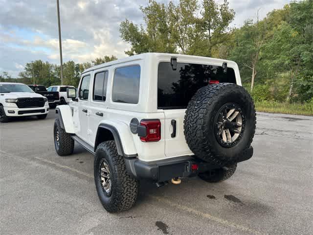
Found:
[[(237, 158), (237, 163), (250, 159), (253, 148), (250, 146)], [(208, 164), (193, 156), (181, 156), (154, 162), (144, 162), (137, 158), (125, 158), (126, 169), (136, 179), (147, 179), (153, 182), (164, 182), (174, 177), (191, 177), (211, 169), (221, 168), (221, 165)], [(197, 164), (198, 169), (193, 170), (192, 165)]]

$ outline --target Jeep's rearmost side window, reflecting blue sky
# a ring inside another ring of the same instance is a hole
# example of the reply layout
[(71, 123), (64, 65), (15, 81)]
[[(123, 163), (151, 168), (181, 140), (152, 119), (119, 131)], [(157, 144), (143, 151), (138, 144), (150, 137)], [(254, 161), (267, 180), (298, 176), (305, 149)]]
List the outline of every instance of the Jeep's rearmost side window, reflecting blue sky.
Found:
[(115, 70), (112, 100), (121, 103), (138, 103), (140, 66), (128, 66)]

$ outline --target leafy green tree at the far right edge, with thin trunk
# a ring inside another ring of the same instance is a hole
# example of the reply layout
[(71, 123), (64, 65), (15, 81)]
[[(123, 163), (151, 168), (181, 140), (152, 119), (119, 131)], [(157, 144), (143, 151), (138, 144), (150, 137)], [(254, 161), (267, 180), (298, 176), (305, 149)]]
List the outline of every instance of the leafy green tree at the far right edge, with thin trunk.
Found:
[[(286, 22), (283, 21), (275, 28), (266, 45), (268, 67), (290, 73), (287, 102), (293, 96), (296, 83), (306, 84), (300, 79), (301, 74), (304, 74), (303, 78), (312, 74), (309, 71), (312, 71), (313, 63), (313, 2), (291, 2), (288, 10)], [(297, 87), (304, 88), (300, 84)]]

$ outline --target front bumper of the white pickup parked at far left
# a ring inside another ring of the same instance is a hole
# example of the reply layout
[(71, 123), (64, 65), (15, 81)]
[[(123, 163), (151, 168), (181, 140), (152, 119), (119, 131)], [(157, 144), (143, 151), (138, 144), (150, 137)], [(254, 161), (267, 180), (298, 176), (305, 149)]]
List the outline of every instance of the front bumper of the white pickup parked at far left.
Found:
[(7, 117), (36, 116), (49, 113), (49, 106), (38, 108), (3, 107)]

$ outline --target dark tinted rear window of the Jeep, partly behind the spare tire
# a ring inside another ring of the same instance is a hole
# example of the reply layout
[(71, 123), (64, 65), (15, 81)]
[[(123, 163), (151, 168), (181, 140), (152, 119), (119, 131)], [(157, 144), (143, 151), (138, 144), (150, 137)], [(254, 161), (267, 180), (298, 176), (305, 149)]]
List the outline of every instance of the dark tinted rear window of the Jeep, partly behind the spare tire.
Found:
[(236, 83), (235, 71), (222, 66), (177, 63), (177, 70), (170, 62), (161, 62), (157, 75), (157, 108), (185, 109), (192, 96), (210, 80)]

